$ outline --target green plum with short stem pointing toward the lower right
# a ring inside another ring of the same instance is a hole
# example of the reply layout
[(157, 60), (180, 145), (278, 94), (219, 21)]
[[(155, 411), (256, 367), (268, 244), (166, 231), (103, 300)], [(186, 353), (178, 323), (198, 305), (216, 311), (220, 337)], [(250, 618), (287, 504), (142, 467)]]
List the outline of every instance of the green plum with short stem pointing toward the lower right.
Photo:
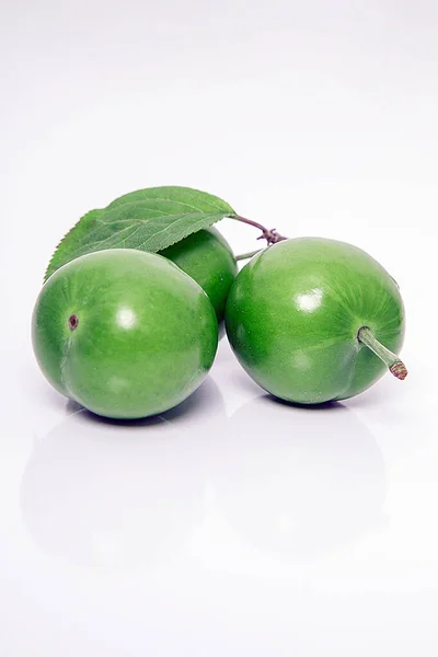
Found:
[(246, 372), (299, 404), (367, 390), (385, 367), (407, 371), (399, 287), (370, 255), (344, 242), (286, 240), (243, 267), (227, 303), (227, 334)]

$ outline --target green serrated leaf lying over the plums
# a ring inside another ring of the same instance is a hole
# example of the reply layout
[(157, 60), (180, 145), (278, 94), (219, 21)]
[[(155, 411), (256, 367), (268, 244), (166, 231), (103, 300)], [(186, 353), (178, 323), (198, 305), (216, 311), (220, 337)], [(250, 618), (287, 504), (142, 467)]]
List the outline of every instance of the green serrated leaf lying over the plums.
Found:
[(117, 198), (106, 208), (91, 210), (58, 244), (45, 280), (70, 261), (105, 249), (138, 249), (157, 253), (224, 217), (231, 206), (188, 187), (151, 187)]

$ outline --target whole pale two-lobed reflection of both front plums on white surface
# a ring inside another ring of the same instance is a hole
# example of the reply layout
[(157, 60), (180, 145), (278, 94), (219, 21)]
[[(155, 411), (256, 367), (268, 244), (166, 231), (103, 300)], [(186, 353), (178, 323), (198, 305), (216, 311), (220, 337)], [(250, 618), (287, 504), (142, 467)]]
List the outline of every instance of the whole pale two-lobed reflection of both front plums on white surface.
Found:
[(347, 407), (262, 395), (227, 418), (207, 380), (163, 417), (71, 415), (34, 446), (21, 506), (49, 553), (131, 569), (178, 552), (209, 514), (265, 553), (319, 558), (385, 525), (385, 491), (376, 440)]

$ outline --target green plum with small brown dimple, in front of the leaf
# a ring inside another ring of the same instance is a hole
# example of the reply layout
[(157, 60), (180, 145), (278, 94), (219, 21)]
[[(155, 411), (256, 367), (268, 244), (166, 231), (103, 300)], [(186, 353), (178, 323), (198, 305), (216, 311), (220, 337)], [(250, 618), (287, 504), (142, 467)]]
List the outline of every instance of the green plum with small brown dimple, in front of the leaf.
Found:
[(176, 406), (200, 385), (218, 344), (215, 310), (198, 284), (161, 255), (125, 249), (55, 272), (32, 324), (48, 381), (114, 418)]

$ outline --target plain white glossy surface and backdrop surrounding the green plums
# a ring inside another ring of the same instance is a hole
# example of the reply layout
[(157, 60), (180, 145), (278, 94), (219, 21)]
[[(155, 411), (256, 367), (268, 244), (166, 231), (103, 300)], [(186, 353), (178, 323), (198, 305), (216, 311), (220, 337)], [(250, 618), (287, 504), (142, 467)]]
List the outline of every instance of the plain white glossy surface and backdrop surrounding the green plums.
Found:
[[(1, 657), (435, 657), (436, 2), (0, 12)], [(78, 412), (30, 346), (47, 260), (160, 184), (370, 252), (406, 302), (406, 381), (292, 410), (222, 339), (168, 422)]]

